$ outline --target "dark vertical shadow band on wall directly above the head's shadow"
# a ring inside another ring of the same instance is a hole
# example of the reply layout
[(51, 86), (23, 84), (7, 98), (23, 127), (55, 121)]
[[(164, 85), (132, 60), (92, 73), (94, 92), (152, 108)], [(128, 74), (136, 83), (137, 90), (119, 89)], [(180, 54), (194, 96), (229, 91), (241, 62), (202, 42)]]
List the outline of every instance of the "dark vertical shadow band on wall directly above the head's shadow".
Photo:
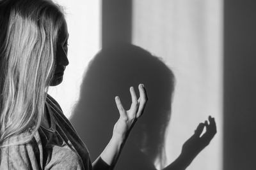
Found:
[(102, 48), (131, 39), (132, 0), (102, 0)]

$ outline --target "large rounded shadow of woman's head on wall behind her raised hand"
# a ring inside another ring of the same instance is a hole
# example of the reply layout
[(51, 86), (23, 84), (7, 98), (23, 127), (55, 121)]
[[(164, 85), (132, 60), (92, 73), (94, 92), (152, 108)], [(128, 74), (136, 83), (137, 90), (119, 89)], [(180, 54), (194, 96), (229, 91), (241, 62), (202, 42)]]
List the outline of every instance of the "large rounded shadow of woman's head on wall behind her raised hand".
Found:
[(131, 106), (129, 87), (147, 89), (148, 103), (134, 125), (116, 169), (156, 169), (164, 164), (164, 137), (171, 113), (174, 76), (161, 61), (142, 48), (118, 44), (102, 49), (90, 62), (81, 85), (72, 124), (95, 160), (108, 144), (119, 113), (115, 96), (125, 109)]

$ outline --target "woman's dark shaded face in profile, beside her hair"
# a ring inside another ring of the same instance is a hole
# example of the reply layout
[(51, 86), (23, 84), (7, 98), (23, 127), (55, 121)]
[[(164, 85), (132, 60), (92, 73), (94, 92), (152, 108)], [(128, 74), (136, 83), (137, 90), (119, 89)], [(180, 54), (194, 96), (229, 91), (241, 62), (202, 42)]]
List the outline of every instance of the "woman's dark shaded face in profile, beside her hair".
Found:
[(59, 85), (63, 80), (65, 67), (68, 65), (68, 29), (67, 22), (64, 20), (59, 31), (56, 46), (56, 69), (51, 81), (51, 86)]

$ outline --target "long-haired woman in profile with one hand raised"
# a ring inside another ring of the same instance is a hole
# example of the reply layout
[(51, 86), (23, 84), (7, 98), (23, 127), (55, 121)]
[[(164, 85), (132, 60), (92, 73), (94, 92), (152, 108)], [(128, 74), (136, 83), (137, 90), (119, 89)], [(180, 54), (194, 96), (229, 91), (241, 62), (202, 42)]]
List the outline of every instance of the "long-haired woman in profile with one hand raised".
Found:
[[(68, 31), (61, 8), (47, 0), (0, 1), (0, 169), (113, 169), (125, 140), (147, 103), (130, 88), (124, 110), (100, 156), (91, 164), (86, 146), (47, 94), (68, 65)], [(99, 134), (100, 135), (100, 134)]]

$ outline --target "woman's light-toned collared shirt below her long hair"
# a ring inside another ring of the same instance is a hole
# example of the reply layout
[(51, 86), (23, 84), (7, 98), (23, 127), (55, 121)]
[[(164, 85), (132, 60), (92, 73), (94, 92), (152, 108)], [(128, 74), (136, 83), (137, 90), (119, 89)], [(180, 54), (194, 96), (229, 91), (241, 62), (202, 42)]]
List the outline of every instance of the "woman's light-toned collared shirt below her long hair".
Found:
[[(24, 145), (1, 148), (0, 169), (84, 169), (91, 170), (90, 155), (60, 105), (49, 94), (46, 99), (51, 127), (41, 125)], [(31, 131), (12, 136), (4, 144), (29, 136)]]

